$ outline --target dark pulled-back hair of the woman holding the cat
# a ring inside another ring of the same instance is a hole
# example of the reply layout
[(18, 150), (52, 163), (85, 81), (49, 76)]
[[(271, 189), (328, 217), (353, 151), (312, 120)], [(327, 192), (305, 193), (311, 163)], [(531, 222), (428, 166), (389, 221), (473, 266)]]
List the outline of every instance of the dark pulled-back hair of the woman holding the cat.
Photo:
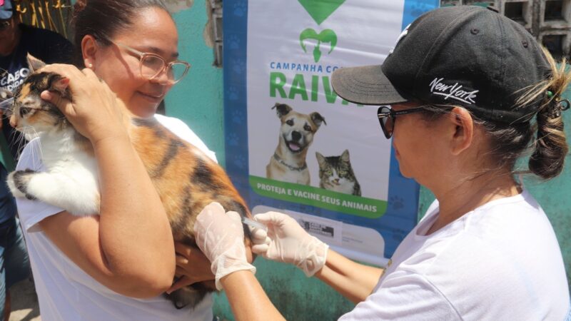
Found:
[(94, 36), (102, 45), (108, 46), (118, 31), (133, 24), (138, 11), (153, 6), (168, 12), (162, 0), (78, 0), (74, 5), (71, 29), (79, 66), (83, 63), (81, 41), (86, 35)]

